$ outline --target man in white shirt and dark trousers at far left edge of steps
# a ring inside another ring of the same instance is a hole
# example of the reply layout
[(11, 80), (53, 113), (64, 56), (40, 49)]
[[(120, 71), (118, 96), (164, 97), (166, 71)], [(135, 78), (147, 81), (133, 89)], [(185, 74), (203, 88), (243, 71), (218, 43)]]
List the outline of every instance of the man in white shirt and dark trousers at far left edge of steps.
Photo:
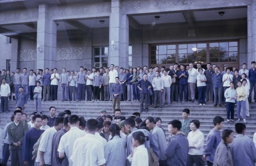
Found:
[(9, 101), (10, 94), (11, 94), (10, 86), (9, 84), (6, 84), (6, 79), (3, 78), (2, 85), (0, 88), (2, 113), (4, 112), (8, 113), (8, 110), (9, 110), (8, 101)]

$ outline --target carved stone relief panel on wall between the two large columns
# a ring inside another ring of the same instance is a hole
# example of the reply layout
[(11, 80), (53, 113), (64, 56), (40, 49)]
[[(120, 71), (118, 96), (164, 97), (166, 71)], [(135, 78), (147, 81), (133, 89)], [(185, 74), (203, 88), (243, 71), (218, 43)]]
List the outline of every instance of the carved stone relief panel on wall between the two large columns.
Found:
[(82, 47), (57, 48), (56, 60), (82, 59)]

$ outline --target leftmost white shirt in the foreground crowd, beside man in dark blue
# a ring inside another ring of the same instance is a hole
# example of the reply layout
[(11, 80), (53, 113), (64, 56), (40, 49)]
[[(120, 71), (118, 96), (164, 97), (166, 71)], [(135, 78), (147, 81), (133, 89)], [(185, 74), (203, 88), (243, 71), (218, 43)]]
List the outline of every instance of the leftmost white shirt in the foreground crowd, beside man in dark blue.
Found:
[(55, 127), (45, 130), (41, 135), (40, 144), (37, 151), (36, 162), (40, 162), (39, 151), (44, 153), (45, 164), (51, 165), (51, 154), (52, 154), (52, 139), (53, 135), (57, 132)]

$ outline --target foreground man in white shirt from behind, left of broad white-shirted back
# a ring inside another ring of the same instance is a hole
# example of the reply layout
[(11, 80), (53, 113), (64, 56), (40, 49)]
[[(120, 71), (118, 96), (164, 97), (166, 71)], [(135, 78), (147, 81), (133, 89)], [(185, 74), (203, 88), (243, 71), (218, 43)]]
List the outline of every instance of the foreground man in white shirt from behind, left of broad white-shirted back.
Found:
[(69, 160), (69, 165), (72, 166), (73, 162), (70, 159), (72, 152), (73, 152), (73, 146), (76, 139), (79, 137), (85, 136), (86, 131), (80, 130), (79, 127), (79, 117), (77, 115), (71, 115), (69, 116), (69, 125), (70, 130), (65, 133), (59, 142), (58, 152), (59, 152), (59, 158), (64, 158), (65, 154)]

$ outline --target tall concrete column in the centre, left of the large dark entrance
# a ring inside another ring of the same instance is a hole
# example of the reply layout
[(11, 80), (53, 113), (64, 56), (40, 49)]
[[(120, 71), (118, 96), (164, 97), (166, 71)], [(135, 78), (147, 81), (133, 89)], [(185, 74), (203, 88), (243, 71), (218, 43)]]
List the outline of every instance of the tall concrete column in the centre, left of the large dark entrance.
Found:
[[(111, 41), (116, 49), (112, 49)], [(111, 1), (109, 65), (128, 67), (129, 18), (121, 14), (121, 0)]]

